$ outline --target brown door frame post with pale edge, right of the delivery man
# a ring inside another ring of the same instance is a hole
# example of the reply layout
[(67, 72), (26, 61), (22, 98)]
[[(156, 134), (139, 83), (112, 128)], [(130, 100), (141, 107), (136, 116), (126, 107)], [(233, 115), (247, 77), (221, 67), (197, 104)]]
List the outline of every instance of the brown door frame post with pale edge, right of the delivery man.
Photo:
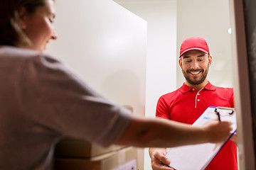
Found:
[(230, 0), (235, 109), (238, 121), (239, 169), (255, 170), (250, 80), (242, 0)]

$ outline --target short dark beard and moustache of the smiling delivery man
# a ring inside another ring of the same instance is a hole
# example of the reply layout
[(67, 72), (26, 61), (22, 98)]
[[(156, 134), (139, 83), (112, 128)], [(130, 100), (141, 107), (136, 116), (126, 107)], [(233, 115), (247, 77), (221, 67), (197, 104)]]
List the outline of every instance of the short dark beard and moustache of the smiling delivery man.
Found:
[[(190, 69), (188, 71), (184, 71), (182, 69), (182, 73), (183, 73), (183, 76), (185, 77), (186, 81), (188, 81), (189, 84), (192, 84), (192, 85), (198, 85), (198, 84), (201, 84), (203, 83), (203, 81), (206, 80), (206, 77), (207, 77), (207, 74), (208, 74), (208, 69), (209, 67), (207, 67), (206, 70), (203, 70), (203, 69)], [(200, 79), (197, 79), (198, 77), (189, 77), (188, 75), (190, 74), (190, 72), (201, 72), (202, 75), (200, 77)], [(195, 79), (193, 79), (195, 78)]]

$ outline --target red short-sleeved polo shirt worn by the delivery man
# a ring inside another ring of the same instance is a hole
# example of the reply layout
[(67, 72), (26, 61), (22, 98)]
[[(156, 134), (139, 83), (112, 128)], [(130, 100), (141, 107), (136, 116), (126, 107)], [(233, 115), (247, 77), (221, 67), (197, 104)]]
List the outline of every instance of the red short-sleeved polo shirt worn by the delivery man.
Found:
[[(156, 106), (156, 116), (193, 124), (206, 111), (208, 106), (234, 108), (233, 89), (213, 86), (209, 81), (200, 91), (183, 84), (180, 89), (159, 98)], [(235, 142), (228, 141), (206, 169), (238, 169)]]

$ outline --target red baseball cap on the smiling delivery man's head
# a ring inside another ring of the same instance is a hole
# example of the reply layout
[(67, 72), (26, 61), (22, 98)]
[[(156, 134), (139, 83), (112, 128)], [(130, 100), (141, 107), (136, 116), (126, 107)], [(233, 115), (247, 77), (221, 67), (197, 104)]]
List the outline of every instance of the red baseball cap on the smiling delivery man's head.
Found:
[(206, 54), (210, 54), (206, 40), (199, 37), (191, 37), (183, 40), (183, 42), (181, 43), (179, 57), (181, 57), (181, 55), (190, 50), (200, 50), (202, 52), (205, 52)]

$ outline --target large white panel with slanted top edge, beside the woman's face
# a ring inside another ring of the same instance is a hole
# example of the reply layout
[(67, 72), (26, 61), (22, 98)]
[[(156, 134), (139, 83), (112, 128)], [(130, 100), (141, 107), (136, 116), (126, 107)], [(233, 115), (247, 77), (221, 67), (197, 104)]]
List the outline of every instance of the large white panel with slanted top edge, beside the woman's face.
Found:
[[(111, 0), (61, 0), (55, 6), (58, 40), (47, 52), (96, 91), (144, 116), (146, 21)], [(141, 159), (143, 166), (143, 154)]]

